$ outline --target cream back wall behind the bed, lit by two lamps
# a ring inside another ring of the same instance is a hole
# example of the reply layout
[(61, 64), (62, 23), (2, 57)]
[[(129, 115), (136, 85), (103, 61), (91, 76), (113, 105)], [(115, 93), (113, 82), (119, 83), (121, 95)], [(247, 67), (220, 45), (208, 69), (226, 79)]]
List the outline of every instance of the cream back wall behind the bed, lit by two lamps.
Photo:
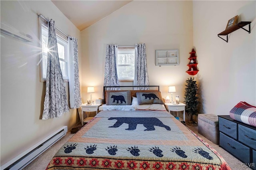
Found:
[[(104, 83), (106, 44), (146, 43), (150, 85), (160, 85), (162, 96), (169, 85), (184, 101), (185, 71), (193, 48), (192, 1), (132, 1), (81, 33), (82, 98), (89, 99), (86, 88), (95, 87), (93, 98), (101, 98)], [(180, 65), (156, 66), (156, 49), (179, 49)], [(123, 84), (123, 83), (122, 83)]]

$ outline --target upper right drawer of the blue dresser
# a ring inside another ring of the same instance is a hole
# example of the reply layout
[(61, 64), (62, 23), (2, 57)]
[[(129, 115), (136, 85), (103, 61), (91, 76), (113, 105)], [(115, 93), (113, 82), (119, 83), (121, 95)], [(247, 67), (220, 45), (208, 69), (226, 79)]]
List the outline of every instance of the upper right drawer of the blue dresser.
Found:
[(256, 130), (238, 125), (238, 140), (256, 150)]

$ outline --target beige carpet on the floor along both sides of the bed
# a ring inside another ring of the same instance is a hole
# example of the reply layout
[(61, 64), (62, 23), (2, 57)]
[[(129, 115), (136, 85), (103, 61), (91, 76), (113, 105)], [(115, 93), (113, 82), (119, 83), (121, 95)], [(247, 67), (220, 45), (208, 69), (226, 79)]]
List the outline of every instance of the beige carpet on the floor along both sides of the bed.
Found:
[[(198, 133), (198, 127), (190, 127), (192, 131), (194, 131), (198, 136), (204, 139), (208, 144), (210, 144), (215, 150), (219, 152), (219, 154), (228, 162), (228, 165), (232, 170), (251, 170), (248, 167), (243, 167), (243, 164), (240, 160), (236, 159), (234, 156), (226, 152), (224, 149), (220, 148), (218, 145), (212, 143), (210, 140), (206, 139), (204, 136)], [(66, 136), (60, 139), (56, 144), (50, 147), (46, 152), (36, 158), (31, 164), (26, 166), (24, 170), (45, 170), (51, 158), (55, 155), (55, 153), (60, 149), (60, 147), (65, 144), (65, 142), (71, 138), (74, 134), (68, 132)]]

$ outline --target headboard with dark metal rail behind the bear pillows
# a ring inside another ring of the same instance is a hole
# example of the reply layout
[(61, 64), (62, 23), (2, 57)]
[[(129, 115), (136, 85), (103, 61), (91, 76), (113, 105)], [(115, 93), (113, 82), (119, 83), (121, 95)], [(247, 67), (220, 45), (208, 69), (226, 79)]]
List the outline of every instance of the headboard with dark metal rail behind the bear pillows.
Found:
[[(107, 90), (107, 88), (119, 88), (121, 90)], [(149, 89), (149, 90), (134, 90), (136, 87), (148, 87), (148, 88), (154, 88), (154, 89)], [(126, 89), (127, 88), (127, 89)], [(132, 88), (130, 90), (129, 88)], [(149, 85), (149, 86), (104, 86), (103, 87), (103, 93), (104, 93), (104, 104), (106, 103), (106, 91), (130, 91), (131, 92), (131, 97), (136, 97), (136, 92), (153, 92), (153, 91), (159, 91), (159, 85)]]

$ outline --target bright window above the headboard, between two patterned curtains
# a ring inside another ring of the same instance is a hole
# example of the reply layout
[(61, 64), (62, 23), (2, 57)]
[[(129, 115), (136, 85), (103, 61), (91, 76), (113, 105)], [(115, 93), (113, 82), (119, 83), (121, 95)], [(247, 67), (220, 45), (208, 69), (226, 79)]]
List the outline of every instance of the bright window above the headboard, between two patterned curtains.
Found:
[(134, 80), (134, 59), (134, 47), (118, 47), (116, 69), (120, 81)]

